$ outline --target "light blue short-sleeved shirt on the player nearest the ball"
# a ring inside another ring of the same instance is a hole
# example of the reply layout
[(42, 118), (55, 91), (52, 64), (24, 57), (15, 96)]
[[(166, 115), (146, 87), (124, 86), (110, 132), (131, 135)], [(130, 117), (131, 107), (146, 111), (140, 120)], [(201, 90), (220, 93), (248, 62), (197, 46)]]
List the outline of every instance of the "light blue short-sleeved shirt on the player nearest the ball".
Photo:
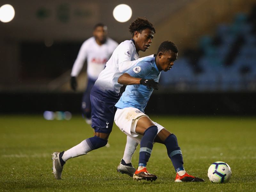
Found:
[[(135, 67), (129, 69), (125, 73), (128, 73), (132, 77), (154, 79), (156, 82), (159, 81), (161, 74), (156, 67), (155, 57), (148, 57), (138, 62)], [(153, 88), (148, 89), (147, 86), (141, 84), (127, 85), (124, 93), (115, 106), (121, 109), (126, 107), (138, 108), (144, 113), (144, 109), (153, 90)]]

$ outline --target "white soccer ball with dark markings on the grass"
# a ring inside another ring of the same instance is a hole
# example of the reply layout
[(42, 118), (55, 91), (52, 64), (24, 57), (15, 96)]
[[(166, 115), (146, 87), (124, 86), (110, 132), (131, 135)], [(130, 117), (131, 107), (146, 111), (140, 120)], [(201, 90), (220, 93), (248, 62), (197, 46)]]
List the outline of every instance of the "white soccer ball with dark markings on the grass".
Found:
[(217, 161), (210, 165), (208, 169), (208, 177), (212, 183), (227, 183), (232, 175), (232, 171), (228, 164)]

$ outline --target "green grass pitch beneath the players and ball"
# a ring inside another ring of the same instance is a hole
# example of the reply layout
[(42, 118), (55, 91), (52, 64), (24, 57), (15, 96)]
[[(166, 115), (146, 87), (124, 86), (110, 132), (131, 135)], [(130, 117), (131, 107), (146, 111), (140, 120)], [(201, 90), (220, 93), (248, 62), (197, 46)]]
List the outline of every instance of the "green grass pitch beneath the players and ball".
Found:
[[(46, 121), (43, 116), (0, 116), (0, 191), (255, 191), (255, 117), (151, 118), (176, 134), (186, 171), (205, 182), (174, 183), (175, 171), (166, 148), (158, 143), (147, 166), (158, 176), (156, 181), (137, 182), (117, 173), (126, 135), (116, 126), (109, 148), (68, 160), (62, 180), (55, 180), (51, 153), (67, 150), (93, 134), (82, 117)], [(138, 158), (137, 149), (132, 159), (135, 167)], [(231, 167), (228, 183), (208, 180), (208, 167), (215, 161)]]

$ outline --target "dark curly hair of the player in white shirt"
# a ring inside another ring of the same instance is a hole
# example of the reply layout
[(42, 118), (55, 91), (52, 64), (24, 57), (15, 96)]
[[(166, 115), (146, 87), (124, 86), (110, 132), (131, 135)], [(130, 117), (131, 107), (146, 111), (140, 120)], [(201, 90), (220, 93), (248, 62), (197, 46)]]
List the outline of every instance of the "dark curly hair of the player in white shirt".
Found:
[(149, 22), (147, 18), (137, 17), (134, 21), (130, 23), (129, 31), (132, 34), (132, 36), (134, 36), (135, 31), (141, 33), (144, 29), (147, 28), (151, 29), (154, 32), (154, 34), (156, 33), (153, 24)]

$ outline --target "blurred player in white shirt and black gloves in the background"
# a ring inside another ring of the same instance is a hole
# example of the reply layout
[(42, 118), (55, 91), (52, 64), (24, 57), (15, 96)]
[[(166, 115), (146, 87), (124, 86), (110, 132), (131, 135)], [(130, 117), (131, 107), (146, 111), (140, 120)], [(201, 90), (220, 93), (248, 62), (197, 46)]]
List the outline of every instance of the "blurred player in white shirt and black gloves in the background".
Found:
[(107, 26), (98, 23), (93, 28), (93, 37), (84, 41), (78, 52), (72, 68), (70, 84), (71, 88), (76, 91), (76, 77), (83, 68), (85, 59), (87, 59), (88, 81), (81, 106), (87, 124), (92, 124), (90, 92), (100, 72), (103, 70), (117, 46), (118, 44), (113, 39), (107, 37)]

